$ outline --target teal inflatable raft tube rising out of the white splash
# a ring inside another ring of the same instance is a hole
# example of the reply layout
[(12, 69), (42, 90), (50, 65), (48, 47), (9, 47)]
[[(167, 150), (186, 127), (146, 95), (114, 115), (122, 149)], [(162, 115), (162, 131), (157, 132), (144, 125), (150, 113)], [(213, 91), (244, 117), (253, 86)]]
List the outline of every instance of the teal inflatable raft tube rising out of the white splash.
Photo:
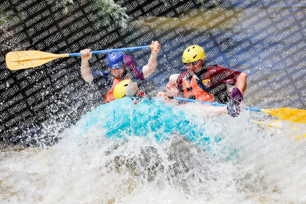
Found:
[(212, 139), (215, 142), (221, 141), (218, 136), (206, 135), (203, 125), (196, 125), (186, 116), (185, 111), (152, 98), (134, 104), (131, 98), (124, 97), (86, 113), (76, 123), (78, 129), (75, 135), (79, 135), (76, 140), (80, 141), (89, 128), (94, 126), (97, 129), (103, 128), (105, 136), (111, 139), (153, 134), (158, 142), (168, 139), (176, 131), (204, 150), (209, 149)]

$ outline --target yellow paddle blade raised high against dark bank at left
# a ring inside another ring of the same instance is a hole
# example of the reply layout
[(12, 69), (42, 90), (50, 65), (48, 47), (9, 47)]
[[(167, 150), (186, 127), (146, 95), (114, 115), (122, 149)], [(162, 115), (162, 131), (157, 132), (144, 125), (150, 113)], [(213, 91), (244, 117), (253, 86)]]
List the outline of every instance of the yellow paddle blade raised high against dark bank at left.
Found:
[(10, 70), (38, 67), (60, 57), (69, 57), (69, 54), (52, 54), (37, 50), (9, 52), (6, 54), (6, 66)]

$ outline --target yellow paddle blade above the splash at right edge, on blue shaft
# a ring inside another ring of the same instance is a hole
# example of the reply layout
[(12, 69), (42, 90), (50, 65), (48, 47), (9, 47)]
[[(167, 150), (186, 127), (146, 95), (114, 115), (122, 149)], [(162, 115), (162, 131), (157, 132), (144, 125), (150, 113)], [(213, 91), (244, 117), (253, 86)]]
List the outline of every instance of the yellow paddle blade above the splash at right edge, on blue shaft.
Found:
[(271, 110), (261, 109), (261, 112), (268, 113), (285, 121), (306, 124), (306, 110), (293, 108), (278, 108)]

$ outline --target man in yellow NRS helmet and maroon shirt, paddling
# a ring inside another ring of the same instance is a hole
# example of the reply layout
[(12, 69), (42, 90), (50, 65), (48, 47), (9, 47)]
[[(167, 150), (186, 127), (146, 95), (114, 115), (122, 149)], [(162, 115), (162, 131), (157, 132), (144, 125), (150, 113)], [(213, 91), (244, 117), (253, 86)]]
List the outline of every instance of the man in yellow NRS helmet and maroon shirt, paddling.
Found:
[[(206, 56), (202, 47), (197, 45), (185, 49), (182, 57), (188, 71), (182, 72), (177, 78), (170, 79), (166, 85), (166, 91), (158, 95), (166, 95), (170, 102), (173, 96), (229, 104), (228, 114), (237, 117), (243, 93), (247, 87), (247, 75), (221, 65), (206, 66)], [(230, 97), (227, 85), (235, 85), (237, 88), (230, 89)], [(236, 98), (235, 98), (236, 97)], [(240, 98), (239, 98), (240, 97)]]

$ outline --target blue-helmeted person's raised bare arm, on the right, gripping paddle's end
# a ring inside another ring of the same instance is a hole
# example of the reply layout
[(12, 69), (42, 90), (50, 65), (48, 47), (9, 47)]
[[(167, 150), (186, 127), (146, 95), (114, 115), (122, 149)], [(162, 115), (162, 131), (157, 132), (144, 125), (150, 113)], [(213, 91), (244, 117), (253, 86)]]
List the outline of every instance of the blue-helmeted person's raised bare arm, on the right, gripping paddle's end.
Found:
[(142, 73), (144, 74), (144, 78), (146, 79), (154, 70), (156, 69), (157, 64), (157, 53), (160, 50), (160, 44), (158, 41), (152, 41), (153, 47), (151, 48), (151, 56), (147, 65), (144, 65), (142, 68)]

